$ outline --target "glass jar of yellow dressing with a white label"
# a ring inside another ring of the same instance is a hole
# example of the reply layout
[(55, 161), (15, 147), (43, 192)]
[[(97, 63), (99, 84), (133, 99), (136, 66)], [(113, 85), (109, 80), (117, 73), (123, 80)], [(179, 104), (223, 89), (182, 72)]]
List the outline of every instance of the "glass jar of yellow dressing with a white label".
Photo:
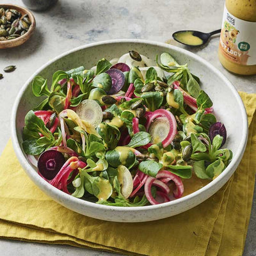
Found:
[(256, 0), (226, 0), (218, 56), (223, 67), (256, 74)]

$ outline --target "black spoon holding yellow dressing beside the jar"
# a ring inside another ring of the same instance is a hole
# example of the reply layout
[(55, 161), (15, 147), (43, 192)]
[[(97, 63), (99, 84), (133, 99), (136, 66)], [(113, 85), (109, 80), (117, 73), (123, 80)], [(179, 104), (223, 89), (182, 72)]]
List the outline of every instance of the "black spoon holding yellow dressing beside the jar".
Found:
[[(180, 31), (176, 31), (175, 33), (173, 33), (172, 37), (174, 40), (176, 40), (180, 44), (184, 44), (184, 45), (188, 45), (188, 46), (199, 46), (199, 45), (206, 44), (207, 41), (209, 40), (210, 36), (218, 34), (218, 33), (220, 33), (220, 31), (221, 31), (221, 29), (212, 31), (210, 33), (203, 33), (203, 32), (194, 31), (194, 30), (180, 30)], [(201, 40), (200, 39), (197, 40), (198, 44), (189, 44), (189, 40), (191, 39), (191, 37), (188, 37), (187, 38), (188, 40), (186, 40), (186, 42), (184, 42), (184, 40), (182, 40), (182, 38), (180, 38), (180, 35), (182, 35), (182, 34), (183, 35), (187, 34), (188, 36), (192, 36), (192, 37), (194, 36), (196, 38), (200, 38)]]

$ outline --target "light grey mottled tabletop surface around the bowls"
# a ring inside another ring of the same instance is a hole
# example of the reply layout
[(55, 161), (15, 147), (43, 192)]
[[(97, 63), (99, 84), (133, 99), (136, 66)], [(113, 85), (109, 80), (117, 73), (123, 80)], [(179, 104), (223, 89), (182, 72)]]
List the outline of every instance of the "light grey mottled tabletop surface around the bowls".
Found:
[[(21, 0), (1, 0), (24, 6)], [(59, 0), (50, 10), (33, 12), (36, 31), (24, 45), (0, 49), (0, 70), (16, 65), (15, 72), (0, 80), (0, 152), (10, 138), (10, 113), (13, 101), (25, 81), (44, 63), (62, 52), (90, 42), (116, 38), (141, 38), (166, 42), (182, 29), (210, 32), (221, 26), (224, 0)], [(219, 37), (212, 36), (204, 47), (190, 49), (230, 79), (237, 90), (256, 93), (256, 76), (234, 76), (218, 61)], [(170, 44), (182, 45), (170, 40)], [(256, 195), (253, 200), (244, 256), (256, 255)], [(0, 252), (11, 255), (114, 255), (49, 244), (0, 240)], [(222, 255), (221, 255), (222, 256)], [(225, 255), (224, 255), (225, 256)]]

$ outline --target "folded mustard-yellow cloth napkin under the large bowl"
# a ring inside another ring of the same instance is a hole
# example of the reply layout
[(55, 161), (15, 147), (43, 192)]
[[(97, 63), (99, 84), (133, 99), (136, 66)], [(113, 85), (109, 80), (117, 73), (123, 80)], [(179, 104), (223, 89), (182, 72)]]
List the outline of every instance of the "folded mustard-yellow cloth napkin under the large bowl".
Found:
[(236, 172), (211, 198), (164, 220), (114, 223), (66, 209), (27, 177), (9, 141), (0, 157), (0, 237), (129, 255), (242, 255), (255, 182), (256, 94), (240, 95), (250, 129)]

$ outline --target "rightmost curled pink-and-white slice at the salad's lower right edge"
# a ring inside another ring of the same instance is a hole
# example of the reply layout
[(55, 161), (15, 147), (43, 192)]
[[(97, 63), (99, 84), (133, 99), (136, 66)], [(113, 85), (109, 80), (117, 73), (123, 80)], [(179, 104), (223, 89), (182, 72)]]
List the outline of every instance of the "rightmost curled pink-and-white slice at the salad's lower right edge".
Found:
[(173, 195), (175, 196), (175, 198), (180, 198), (182, 196), (184, 192), (184, 186), (179, 176), (169, 171), (162, 170), (157, 173), (156, 178), (161, 179), (162, 182), (168, 182), (169, 180), (173, 180), (176, 185), (176, 189), (173, 191)]

